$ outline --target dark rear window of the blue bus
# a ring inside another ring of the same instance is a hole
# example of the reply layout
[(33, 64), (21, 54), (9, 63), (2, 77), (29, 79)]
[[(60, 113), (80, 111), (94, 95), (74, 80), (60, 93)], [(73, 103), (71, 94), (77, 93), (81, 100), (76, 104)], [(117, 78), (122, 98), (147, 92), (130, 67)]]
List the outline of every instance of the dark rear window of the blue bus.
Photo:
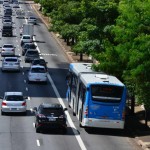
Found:
[(119, 103), (123, 94), (123, 87), (112, 85), (92, 85), (92, 100), (106, 103)]

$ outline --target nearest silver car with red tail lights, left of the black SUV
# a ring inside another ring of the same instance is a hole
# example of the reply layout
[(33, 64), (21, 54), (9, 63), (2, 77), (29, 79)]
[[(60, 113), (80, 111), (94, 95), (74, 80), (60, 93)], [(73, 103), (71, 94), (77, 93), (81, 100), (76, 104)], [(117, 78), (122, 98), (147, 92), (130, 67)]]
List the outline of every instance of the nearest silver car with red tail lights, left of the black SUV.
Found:
[(1, 102), (1, 114), (15, 112), (24, 113), (27, 111), (27, 97), (23, 96), (22, 92), (5, 92), (4, 97), (0, 97)]

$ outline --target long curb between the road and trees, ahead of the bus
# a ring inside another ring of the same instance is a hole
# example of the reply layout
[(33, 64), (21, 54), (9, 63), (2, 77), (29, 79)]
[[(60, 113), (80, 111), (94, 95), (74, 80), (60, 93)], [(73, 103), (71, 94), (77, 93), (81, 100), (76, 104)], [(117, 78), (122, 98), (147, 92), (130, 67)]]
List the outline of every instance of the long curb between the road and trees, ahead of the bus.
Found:
[[(46, 25), (47, 28), (49, 28), (49, 25), (45, 22), (45, 20), (41, 17), (40, 13), (35, 9), (34, 4), (30, 4), (30, 6), (34, 9), (34, 11), (38, 14), (38, 16), (40, 17), (40, 19), (42, 20), (42, 22)], [(59, 44), (59, 46), (63, 49), (65, 55), (67, 56), (69, 63), (71, 62), (75, 62), (73, 60), (73, 58), (69, 55), (69, 52), (67, 53), (65, 47), (61, 44), (61, 42), (58, 40), (57, 36), (55, 35), (54, 32), (51, 32), (51, 35), (53, 36), (53, 38), (57, 41), (57, 43)]]

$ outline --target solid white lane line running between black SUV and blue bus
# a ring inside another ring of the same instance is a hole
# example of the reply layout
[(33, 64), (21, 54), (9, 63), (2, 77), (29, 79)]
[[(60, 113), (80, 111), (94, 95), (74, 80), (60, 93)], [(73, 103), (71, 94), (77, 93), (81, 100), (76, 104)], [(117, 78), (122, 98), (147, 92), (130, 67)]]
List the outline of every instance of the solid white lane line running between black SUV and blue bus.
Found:
[[(50, 74), (48, 74), (47, 77), (48, 77), (48, 79), (49, 79), (49, 81), (50, 81), (50, 83), (51, 83), (51, 86), (52, 86), (53, 89), (54, 89), (54, 92), (55, 92), (55, 94), (56, 94), (56, 96), (57, 96), (57, 99), (58, 99), (59, 103), (63, 106), (63, 108), (65, 108), (66, 106), (65, 106), (65, 104), (64, 104), (64, 102), (63, 102), (63, 100), (62, 100), (62, 98), (60, 98), (60, 94), (59, 94), (59, 92), (58, 92), (58, 90), (57, 90), (57, 88), (56, 88), (56, 86), (55, 86), (55, 84), (54, 84), (54, 82), (53, 82), (53, 80), (52, 80)], [(86, 147), (85, 147), (85, 145), (84, 145), (84, 143), (83, 143), (83, 141), (82, 141), (82, 139), (81, 139), (81, 136), (79, 135), (79, 133), (78, 133), (78, 131), (77, 131), (77, 128), (76, 128), (75, 125), (73, 124), (73, 121), (72, 121), (72, 119), (71, 119), (71, 117), (70, 117), (68, 111), (66, 111), (65, 113), (66, 113), (66, 115), (67, 115), (67, 120), (68, 120), (68, 123), (69, 123), (70, 127), (71, 127), (72, 129), (75, 129), (75, 130), (72, 130), (72, 131), (73, 131), (73, 133), (74, 133), (74, 135), (75, 135), (75, 137), (76, 137), (76, 139), (77, 139), (77, 141), (78, 141), (78, 143), (79, 143), (79, 146), (81, 147), (82, 150), (87, 150)]]

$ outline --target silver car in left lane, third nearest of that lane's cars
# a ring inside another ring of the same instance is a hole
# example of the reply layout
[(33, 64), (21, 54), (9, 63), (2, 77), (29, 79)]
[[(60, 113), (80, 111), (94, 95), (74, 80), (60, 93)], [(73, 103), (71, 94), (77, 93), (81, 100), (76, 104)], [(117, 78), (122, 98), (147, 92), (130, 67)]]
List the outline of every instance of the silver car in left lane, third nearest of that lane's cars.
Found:
[(14, 56), (15, 55), (15, 47), (13, 44), (4, 44), (1, 50), (1, 56)]

